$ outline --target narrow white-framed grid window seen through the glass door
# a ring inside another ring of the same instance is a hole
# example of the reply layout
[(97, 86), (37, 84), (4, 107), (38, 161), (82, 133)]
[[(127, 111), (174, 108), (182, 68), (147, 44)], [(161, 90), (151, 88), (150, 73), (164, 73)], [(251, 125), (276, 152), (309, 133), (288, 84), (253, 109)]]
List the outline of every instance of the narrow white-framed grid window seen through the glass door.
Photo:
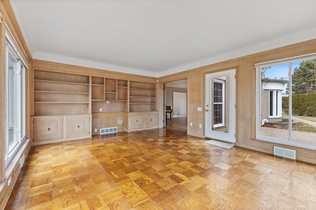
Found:
[(213, 127), (225, 125), (225, 81), (214, 79)]

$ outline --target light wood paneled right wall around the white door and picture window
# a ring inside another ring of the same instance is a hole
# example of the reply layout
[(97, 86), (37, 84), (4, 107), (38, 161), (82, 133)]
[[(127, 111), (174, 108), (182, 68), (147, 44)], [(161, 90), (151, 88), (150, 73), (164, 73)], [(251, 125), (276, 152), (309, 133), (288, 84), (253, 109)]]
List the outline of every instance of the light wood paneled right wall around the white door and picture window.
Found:
[[(255, 139), (256, 82), (254, 64), (311, 53), (316, 53), (316, 39), (160, 77), (158, 83), (163, 84), (188, 78), (188, 135), (204, 137), (205, 113), (198, 112), (197, 107), (202, 107), (202, 110), (205, 110), (205, 74), (236, 68), (236, 145), (272, 154), (273, 146), (280, 145)], [(158, 94), (161, 94), (161, 91), (162, 89), (158, 89)], [(159, 103), (162, 104), (162, 101), (158, 101)], [(163, 114), (159, 113), (160, 118), (161, 115)], [(193, 126), (190, 126), (190, 122), (193, 123)], [(199, 124), (203, 125), (202, 128), (199, 128)], [(161, 126), (161, 122), (159, 126)], [(316, 163), (315, 150), (284, 145), (282, 147), (296, 150), (298, 160)]]

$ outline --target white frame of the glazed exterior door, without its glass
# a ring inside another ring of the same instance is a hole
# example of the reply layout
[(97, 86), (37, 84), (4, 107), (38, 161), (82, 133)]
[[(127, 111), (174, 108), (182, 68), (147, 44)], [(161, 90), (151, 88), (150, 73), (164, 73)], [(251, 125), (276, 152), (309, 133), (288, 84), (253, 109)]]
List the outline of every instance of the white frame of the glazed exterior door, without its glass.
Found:
[[(211, 101), (211, 79), (220, 77), (229, 77), (229, 122), (228, 132), (220, 132), (213, 130), (212, 127), (212, 107)], [(221, 140), (224, 142), (236, 143), (236, 69), (230, 69), (215, 73), (205, 74), (205, 137)]]

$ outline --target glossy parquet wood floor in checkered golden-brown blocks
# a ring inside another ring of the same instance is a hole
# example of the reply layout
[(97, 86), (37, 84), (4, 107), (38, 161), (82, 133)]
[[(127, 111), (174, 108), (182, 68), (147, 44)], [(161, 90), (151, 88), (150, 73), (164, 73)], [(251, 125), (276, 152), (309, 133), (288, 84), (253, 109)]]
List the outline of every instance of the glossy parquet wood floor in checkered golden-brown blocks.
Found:
[(316, 165), (208, 145), (175, 120), (32, 147), (5, 209), (316, 209)]

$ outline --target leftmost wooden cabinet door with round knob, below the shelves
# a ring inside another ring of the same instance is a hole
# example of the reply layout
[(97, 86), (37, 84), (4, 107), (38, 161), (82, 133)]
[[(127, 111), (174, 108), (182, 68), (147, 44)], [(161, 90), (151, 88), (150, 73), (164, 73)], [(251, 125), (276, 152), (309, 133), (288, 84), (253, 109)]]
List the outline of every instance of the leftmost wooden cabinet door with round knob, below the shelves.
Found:
[(34, 119), (34, 142), (63, 139), (63, 117)]

